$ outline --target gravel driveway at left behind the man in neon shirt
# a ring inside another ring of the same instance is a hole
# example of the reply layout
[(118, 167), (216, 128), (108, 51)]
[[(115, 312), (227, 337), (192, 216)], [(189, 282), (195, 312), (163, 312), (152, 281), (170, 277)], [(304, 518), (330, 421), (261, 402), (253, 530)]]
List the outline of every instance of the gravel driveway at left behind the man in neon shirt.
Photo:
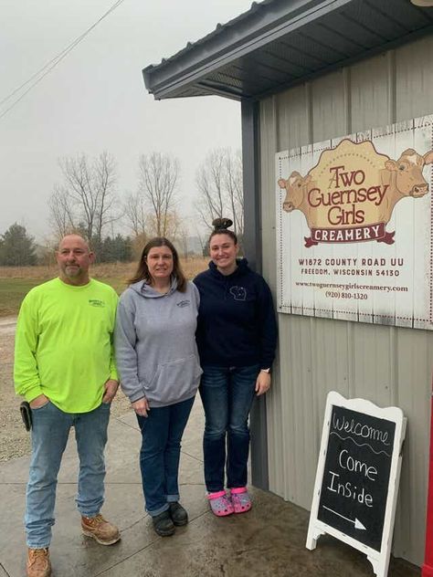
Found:
[[(12, 379), (15, 329), (16, 317), (0, 319), (0, 461), (30, 453), (30, 435), (21, 421), (21, 398), (16, 396)], [(111, 414), (120, 416), (129, 410), (129, 401), (117, 393)]]

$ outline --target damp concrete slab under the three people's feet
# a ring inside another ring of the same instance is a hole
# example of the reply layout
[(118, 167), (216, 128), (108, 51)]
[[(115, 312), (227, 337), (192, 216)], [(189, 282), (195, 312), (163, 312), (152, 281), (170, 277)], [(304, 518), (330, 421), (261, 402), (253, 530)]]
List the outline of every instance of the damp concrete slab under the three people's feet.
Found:
[[(216, 518), (208, 509), (201, 439), (204, 419), (195, 404), (185, 431), (180, 466), (181, 500), (190, 522), (170, 538), (158, 537), (146, 515), (135, 416), (111, 419), (104, 514), (121, 529), (121, 542), (101, 547), (80, 532), (75, 507), (77, 456), (71, 435), (59, 475), (57, 523), (50, 547), (54, 577), (373, 577), (364, 555), (322, 537), (305, 549), (309, 513), (252, 489), (246, 515)], [(25, 574), (24, 515), (28, 457), (0, 464), (0, 577)], [(417, 568), (393, 560), (388, 577), (417, 577)]]

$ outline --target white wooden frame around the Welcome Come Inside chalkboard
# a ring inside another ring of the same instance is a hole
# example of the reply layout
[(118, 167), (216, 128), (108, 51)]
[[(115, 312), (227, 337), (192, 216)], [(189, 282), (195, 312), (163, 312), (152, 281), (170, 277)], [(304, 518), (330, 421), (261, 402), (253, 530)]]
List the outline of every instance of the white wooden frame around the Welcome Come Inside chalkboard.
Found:
[[(384, 529), (382, 533), (382, 544), (380, 551), (375, 551), (364, 543), (355, 540), (340, 530), (323, 523), (318, 519), (319, 504), (322, 490), (322, 479), (324, 475), (324, 466), (328, 448), (328, 438), (331, 427), (331, 415), (333, 406), (340, 406), (359, 413), (368, 414), (380, 419), (386, 419), (395, 423), (396, 430), (394, 436), (394, 446), (391, 456), (391, 467), (389, 472), (388, 491), (385, 504)], [(314, 493), (312, 498), (312, 511), (310, 514), (310, 523), (306, 541), (306, 548), (314, 550), (317, 540), (325, 533), (332, 535), (338, 540), (342, 540), (357, 551), (361, 551), (371, 562), (373, 570), (377, 577), (386, 577), (389, 566), (389, 556), (391, 554), (392, 537), (394, 522), (396, 519), (396, 500), (398, 495), (398, 485), (400, 479), (402, 448), (406, 435), (407, 418), (403, 415), (400, 408), (396, 406), (380, 408), (377, 405), (364, 399), (346, 399), (342, 394), (335, 391), (328, 393), (326, 398), (326, 408), (322, 429), (322, 443), (317, 465), (316, 480), (314, 484)]]

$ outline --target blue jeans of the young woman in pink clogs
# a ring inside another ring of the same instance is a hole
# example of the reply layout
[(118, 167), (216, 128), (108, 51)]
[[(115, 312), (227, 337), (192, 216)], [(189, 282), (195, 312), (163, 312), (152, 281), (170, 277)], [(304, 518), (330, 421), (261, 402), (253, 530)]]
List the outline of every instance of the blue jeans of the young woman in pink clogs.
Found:
[(227, 487), (247, 485), (248, 414), (255, 396), (259, 364), (202, 367), (200, 395), (205, 408), (203, 437), (205, 481), (209, 493), (224, 488), (227, 440)]

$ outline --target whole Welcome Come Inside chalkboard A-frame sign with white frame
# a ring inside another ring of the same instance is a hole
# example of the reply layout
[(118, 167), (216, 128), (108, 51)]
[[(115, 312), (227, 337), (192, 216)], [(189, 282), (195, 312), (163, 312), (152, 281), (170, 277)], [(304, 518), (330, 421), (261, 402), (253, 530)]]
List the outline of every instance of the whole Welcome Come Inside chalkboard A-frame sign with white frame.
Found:
[(362, 399), (329, 393), (307, 548), (329, 533), (364, 551), (386, 575), (406, 419)]

